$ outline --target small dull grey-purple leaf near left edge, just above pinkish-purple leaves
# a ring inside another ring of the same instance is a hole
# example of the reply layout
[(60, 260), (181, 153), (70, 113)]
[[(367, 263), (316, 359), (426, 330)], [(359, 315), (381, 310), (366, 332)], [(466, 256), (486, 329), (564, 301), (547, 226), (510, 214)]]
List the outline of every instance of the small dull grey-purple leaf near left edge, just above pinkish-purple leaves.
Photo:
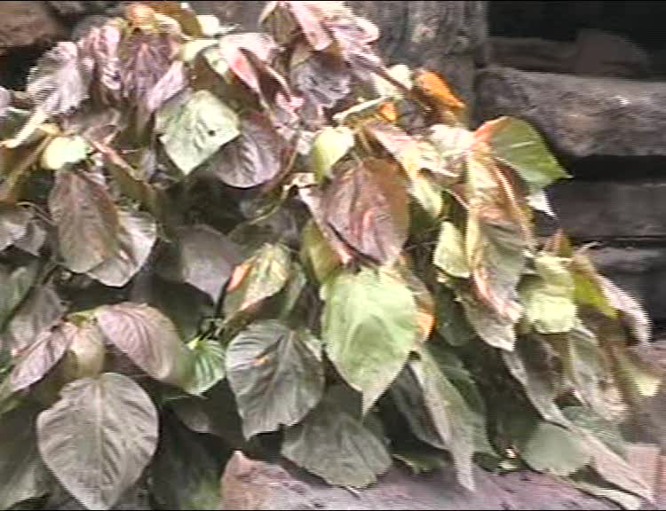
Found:
[[(36, 278), (36, 269), (32, 276), (26, 275), (27, 293), (33, 280)], [(25, 271), (25, 270), (24, 270)], [(29, 282), (29, 284), (28, 284)], [(25, 350), (37, 335), (55, 324), (65, 313), (65, 307), (52, 286), (39, 286), (32, 290), (25, 302), (20, 304), (12, 320), (7, 325), (6, 339), (13, 353)]]

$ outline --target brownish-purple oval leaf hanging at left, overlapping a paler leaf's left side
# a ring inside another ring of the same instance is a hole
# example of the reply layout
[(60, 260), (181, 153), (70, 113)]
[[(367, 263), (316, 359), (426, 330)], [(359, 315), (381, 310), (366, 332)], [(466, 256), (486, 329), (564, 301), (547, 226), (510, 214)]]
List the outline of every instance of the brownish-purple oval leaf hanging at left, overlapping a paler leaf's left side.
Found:
[(60, 253), (76, 273), (92, 270), (118, 249), (118, 213), (102, 185), (87, 174), (60, 171), (49, 195)]

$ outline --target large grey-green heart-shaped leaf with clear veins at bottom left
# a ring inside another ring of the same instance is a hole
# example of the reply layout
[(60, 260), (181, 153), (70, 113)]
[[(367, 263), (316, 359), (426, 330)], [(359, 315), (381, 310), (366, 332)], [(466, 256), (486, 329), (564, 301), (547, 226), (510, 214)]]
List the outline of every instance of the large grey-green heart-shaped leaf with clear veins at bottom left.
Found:
[(127, 376), (73, 381), (37, 419), (39, 452), (89, 509), (113, 507), (141, 476), (157, 444), (157, 411)]

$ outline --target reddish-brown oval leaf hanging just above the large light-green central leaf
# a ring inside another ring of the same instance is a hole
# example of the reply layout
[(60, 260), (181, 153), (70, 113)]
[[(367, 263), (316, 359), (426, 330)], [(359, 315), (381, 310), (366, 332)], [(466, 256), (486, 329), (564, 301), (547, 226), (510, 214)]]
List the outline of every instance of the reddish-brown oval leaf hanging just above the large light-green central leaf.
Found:
[(337, 174), (324, 197), (326, 219), (361, 254), (390, 263), (407, 240), (406, 195), (395, 168), (370, 159)]

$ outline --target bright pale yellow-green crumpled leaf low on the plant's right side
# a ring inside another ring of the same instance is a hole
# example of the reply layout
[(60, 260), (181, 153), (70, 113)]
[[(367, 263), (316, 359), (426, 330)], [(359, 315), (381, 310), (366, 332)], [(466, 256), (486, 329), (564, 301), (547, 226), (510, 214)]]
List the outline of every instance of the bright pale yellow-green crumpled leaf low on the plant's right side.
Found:
[(535, 258), (537, 276), (520, 288), (525, 317), (541, 334), (568, 332), (575, 326), (574, 278), (567, 260), (541, 254)]

